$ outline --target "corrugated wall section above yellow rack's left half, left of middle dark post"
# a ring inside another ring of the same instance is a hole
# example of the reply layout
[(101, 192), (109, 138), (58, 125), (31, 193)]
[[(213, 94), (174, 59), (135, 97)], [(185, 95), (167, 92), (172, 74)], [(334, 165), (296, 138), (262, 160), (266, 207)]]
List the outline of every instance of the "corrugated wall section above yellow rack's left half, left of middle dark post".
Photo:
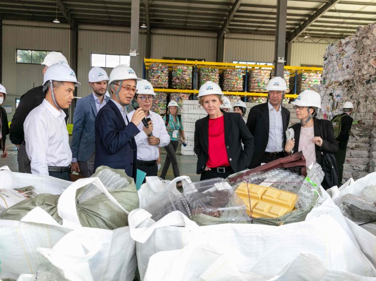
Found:
[(153, 30), (150, 57), (153, 59), (176, 57), (215, 61), (216, 38), (217, 34), (213, 32)]

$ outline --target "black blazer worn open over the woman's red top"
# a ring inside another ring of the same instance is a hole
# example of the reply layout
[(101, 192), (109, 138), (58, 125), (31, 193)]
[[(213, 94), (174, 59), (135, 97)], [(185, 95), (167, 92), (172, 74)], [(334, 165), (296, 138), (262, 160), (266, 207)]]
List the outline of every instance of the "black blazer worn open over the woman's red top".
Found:
[[(225, 123), (225, 144), (228, 162), (235, 173), (240, 172), (247, 169), (251, 163), (254, 151), (253, 136), (239, 113), (222, 112)], [(197, 173), (203, 172), (208, 160), (208, 126), (209, 115), (196, 121), (194, 151), (198, 157)], [(244, 149), (242, 148), (242, 143), (244, 144)]]

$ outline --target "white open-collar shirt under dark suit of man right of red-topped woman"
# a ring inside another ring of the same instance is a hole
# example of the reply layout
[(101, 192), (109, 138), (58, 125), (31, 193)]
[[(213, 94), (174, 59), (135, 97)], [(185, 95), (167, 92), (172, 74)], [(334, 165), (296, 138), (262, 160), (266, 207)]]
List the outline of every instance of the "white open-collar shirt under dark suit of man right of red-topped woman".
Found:
[(266, 146), (267, 152), (283, 151), (283, 122), (282, 107), (278, 111), (268, 102), (269, 108), (269, 140)]

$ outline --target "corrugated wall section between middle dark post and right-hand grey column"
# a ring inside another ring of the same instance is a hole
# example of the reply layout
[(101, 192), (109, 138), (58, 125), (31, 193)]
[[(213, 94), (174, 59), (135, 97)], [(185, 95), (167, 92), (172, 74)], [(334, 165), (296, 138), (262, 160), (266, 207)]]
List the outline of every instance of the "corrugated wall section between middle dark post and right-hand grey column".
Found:
[(226, 34), (224, 62), (233, 61), (272, 63), (274, 59), (273, 36)]

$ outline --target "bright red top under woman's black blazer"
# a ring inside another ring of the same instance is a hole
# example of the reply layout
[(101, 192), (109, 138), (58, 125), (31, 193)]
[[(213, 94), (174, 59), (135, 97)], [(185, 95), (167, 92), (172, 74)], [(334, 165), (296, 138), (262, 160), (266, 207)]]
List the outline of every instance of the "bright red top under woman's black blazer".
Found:
[(206, 166), (209, 168), (230, 166), (227, 159), (225, 144), (225, 121), (224, 117), (209, 118), (209, 149)]

